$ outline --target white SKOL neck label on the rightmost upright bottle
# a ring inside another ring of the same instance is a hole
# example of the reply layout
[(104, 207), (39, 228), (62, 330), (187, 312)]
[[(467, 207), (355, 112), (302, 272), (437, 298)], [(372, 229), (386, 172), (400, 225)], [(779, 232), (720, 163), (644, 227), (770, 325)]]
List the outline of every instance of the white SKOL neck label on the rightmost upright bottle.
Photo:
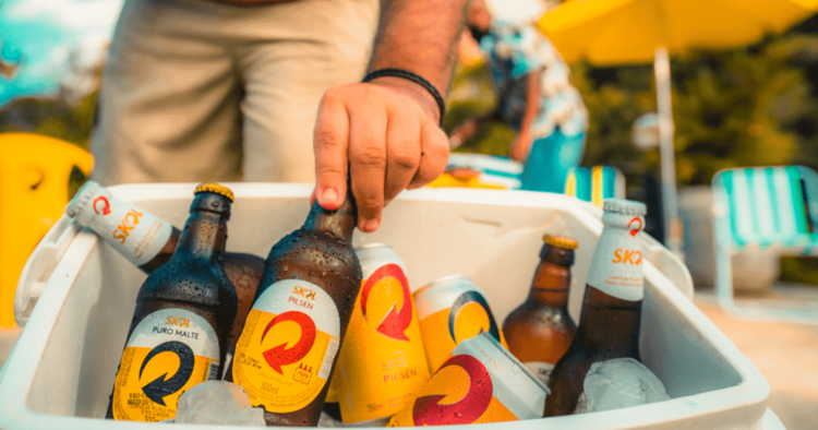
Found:
[[(610, 216), (613, 215), (617, 214)], [(637, 234), (645, 225), (645, 218), (630, 215), (619, 224), (623, 227), (626, 224), (627, 228), (608, 224), (603, 227), (593, 251), (588, 285), (623, 300), (639, 301), (645, 296), (645, 283), (641, 241)]]

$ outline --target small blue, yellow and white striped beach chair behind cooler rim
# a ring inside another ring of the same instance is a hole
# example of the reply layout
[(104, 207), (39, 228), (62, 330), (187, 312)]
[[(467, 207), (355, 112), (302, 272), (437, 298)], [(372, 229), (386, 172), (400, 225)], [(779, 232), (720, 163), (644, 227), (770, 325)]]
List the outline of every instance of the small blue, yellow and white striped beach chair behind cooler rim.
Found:
[(565, 181), (565, 194), (602, 207), (605, 199), (625, 199), (625, 175), (613, 166), (575, 167)]

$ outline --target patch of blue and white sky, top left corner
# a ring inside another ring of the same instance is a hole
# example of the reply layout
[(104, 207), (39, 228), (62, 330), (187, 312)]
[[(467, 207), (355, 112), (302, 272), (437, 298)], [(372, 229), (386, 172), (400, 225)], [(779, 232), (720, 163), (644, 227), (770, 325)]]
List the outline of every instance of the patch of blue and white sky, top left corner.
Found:
[(122, 0), (0, 0), (0, 58), (17, 63), (0, 75), (0, 106), (25, 96), (52, 96), (72, 50), (92, 61), (105, 55)]

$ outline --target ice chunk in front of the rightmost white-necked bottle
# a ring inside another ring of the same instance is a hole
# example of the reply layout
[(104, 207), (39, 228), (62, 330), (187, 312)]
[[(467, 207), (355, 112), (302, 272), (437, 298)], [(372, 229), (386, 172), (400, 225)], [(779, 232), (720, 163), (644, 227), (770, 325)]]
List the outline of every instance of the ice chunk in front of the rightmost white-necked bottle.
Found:
[(669, 401), (662, 381), (633, 358), (594, 362), (585, 377), (575, 414), (599, 413)]

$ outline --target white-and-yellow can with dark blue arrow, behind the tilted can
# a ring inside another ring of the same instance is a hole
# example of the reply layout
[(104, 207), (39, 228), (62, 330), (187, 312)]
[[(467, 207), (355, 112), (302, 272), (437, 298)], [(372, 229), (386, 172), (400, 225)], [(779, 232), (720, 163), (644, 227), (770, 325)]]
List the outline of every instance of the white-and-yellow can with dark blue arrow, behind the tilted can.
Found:
[(432, 372), (443, 365), (457, 344), (485, 331), (508, 347), (489, 301), (467, 276), (440, 278), (414, 292), (420, 332)]

